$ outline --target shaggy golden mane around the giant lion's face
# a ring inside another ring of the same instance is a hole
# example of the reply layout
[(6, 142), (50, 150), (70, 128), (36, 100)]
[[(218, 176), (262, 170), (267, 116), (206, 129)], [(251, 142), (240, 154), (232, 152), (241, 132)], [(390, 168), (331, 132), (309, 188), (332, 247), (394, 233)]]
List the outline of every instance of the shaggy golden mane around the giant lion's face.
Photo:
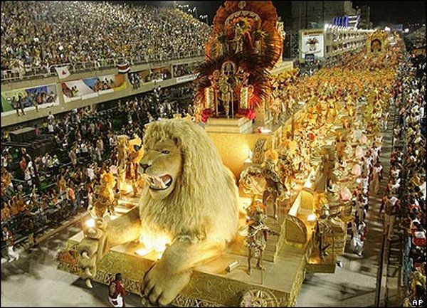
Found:
[(155, 201), (145, 186), (139, 216), (143, 230), (191, 240), (230, 241), (238, 229), (238, 188), (214, 142), (202, 127), (186, 120), (147, 125), (144, 144), (174, 140), (181, 151), (181, 173), (174, 191)]

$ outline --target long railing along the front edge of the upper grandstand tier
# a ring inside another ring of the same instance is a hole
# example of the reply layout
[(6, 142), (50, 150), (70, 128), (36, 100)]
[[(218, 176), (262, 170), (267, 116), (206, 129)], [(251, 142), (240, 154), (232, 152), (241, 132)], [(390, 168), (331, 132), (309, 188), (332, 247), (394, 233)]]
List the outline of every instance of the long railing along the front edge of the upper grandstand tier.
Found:
[(117, 57), (109, 59), (99, 59), (78, 63), (61, 63), (50, 67), (31, 67), (11, 70), (1, 70), (1, 83), (11, 83), (19, 80), (36, 78), (48, 78), (57, 75), (56, 68), (68, 67), (70, 73), (83, 73), (90, 70), (104, 70), (115, 68), (119, 63), (130, 63), (130, 65), (148, 64), (184, 58), (194, 58), (204, 55), (204, 50), (181, 51), (179, 53), (156, 54), (156, 55), (135, 55), (133, 57)]

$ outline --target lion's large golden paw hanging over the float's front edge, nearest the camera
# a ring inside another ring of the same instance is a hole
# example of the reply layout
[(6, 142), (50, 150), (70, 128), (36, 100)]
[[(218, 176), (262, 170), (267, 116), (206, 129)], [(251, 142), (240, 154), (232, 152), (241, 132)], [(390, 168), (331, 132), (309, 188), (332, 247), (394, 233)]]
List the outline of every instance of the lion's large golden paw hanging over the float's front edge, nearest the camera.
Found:
[(141, 294), (153, 305), (166, 306), (170, 304), (189, 283), (191, 272), (171, 275), (163, 267), (154, 265), (144, 277)]

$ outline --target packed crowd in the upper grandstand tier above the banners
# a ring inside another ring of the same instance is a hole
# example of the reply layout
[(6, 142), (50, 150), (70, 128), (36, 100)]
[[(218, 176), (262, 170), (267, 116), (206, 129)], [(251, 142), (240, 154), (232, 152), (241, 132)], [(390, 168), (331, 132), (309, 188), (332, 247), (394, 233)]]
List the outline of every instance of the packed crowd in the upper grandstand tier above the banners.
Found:
[(1, 6), (1, 70), (203, 51), (211, 28), (172, 7), (106, 1), (6, 1)]

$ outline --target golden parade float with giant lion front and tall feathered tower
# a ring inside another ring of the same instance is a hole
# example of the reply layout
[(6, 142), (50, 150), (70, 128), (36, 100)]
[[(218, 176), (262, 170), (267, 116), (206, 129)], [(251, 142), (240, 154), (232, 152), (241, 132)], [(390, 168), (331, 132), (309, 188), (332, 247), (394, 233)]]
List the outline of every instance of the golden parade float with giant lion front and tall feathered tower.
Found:
[(358, 152), (374, 140), (363, 127), (373, 119), (364, 119), (369, 105), (334, 99), (342, 93), (332, 74), (329, 84), (306, 80), (313, 87), (301, 93), (305, 105), (268, 124), (265, 115), (283, 105), (285, 87), (297, 79), (295, 70), (269, 73), (282, 48), (270, 1), (226, 1), (199, 67), (201, 123), (155, 122), (143, 154), (123, 146), (135, 152), (119, 156), (139, 164), (142, 188), (137, 175), (122, 176), (130, 189), (117, 202), (109, 193), (100, 199), (104, 208), (115, 204), (115, 215), (82, 222), (58, 268), (88, 287), (121, 272), (143, 304), (179, 307), (291, 307), (306, 272), (334, 272), (352, 216)]

